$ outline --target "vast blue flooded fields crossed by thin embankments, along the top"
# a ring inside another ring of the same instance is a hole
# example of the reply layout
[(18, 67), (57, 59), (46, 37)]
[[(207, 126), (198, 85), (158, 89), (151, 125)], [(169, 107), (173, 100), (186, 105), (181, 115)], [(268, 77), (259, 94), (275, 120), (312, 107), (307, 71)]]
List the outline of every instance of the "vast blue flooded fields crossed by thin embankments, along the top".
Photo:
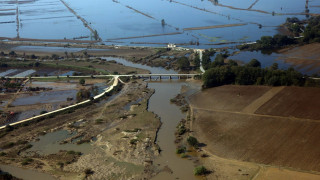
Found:
[(304, 19), (320, 13), (318, 1), (309, 1), (306, 7), (301, 0), (1, 0), (0, 4), (2, 37), (189, 47), (199, 42), (201, 48), (256, 41), (276, 34), (287, 17)]

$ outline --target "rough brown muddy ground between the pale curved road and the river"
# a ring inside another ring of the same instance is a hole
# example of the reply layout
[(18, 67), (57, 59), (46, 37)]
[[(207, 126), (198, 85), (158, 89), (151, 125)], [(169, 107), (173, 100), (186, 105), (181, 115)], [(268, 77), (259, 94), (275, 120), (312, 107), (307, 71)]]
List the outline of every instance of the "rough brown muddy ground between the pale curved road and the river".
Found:
[[(43, 171), (59, 179), (148, 178), (153, 173), (152, 160), (158, 153), (154, 140), (160, 126), (159, 119), (146, 111), (152, 94), (145, 82), (132, 81), (123, 85), (117, 98), (106, 97), (72, 112), (7, 130), (0, 139), (3, 149), (0, 162)], [(137, 103), (124, 108), (129, 102)], [(34, 143), (44, 134), (59, 133), (61, 129), (70, 135), (58, 144), (79, 144), (79, 147), (76, 145), (73, 151), (58, 148), (49, 154), (45, 149), (33, 150), (32, 144), (38, 147)], [(82, 151), (83, 144), (92, 150)]]

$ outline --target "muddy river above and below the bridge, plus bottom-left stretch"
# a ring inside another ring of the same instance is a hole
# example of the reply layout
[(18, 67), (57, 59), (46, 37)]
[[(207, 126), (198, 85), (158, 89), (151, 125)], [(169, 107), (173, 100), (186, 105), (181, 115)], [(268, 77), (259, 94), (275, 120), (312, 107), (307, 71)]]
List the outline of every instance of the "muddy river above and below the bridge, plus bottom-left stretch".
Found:
[[(125, 66), (134, 66), (137, 68), (147, 69), (151, 73), (177, 73), (172, 70), (166, 70), (164, 68), (150, 67), (145, 65), (133, 64), (121, 58), (105, 58), (106, 60), (115, 60), (118, 63), (122, 63)], [(149, 88), (155, 89), (155, 93), (149, 100), (148, 111), (152, 111), (161, 118), (162, 126), (158, 132), (157, 143), (161, 148), (160, 156), (155, 160), (154, 164), (158, 169), (166, 169), (155, 176), (153, 179), (195, 179), (193, 175), (194, 164), (191, 160), (183, 159), (175, 154), (176, 145), (175, 131), (176, 126), (182, 118), (185, 118), (185, 114), (181, 113), (178, 106), (171, 104), (170, 99), (174, 98), (182, 86), (188, 86), (185, 80), (179, 79), (162, 79), (151, 80), (148, 83)], [(0, 168), (6, 172), (11, 173), (14, 176), (21, 177), (25, 171), (28, 171), (28, 176), (24, 176), (24, 179), (43, 179), (46, 174), (39, 173), (37, 171), (26, 170), (14, 166), (0, 165)], [(169, 171), (168, 171), (169, 170)], [(19, 176), (20, 174), (20, 176)], [(52, 179), (52, 176), (47, 175)], [(48, 178), (45, 178), (48, 179)]]

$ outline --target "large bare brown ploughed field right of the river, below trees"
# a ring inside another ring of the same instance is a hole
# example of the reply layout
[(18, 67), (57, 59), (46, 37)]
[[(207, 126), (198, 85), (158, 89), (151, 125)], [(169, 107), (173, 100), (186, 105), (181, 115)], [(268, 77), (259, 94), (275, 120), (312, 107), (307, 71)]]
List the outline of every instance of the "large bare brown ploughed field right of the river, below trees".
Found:
[(207, 89), (191, 97), (192, 129), (213, 157), (258, 166), (257, 179), (281, 179), (294, 173), (319, 178), (308, 176), (320, 171), (317, 94), (319, 88), (230, 85)]

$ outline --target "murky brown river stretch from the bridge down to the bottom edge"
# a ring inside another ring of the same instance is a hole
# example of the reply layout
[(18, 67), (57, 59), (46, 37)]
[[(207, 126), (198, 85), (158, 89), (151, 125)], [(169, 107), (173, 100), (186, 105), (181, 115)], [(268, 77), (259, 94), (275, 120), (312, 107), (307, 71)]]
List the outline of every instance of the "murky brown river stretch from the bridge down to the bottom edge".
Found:
[(150, 82), (149, 88), (155, 89), (154, 95), (149, 100), (149, 111), (159, 115), (162, 126), (158, 132), (157, 143), (161, 148), (160, 157), (154, 164), (159, 165), (159, 168), (169, 167), (173, 173), (161, 172), (153, 179), (195, 179), (193, 175), (193, 162), (187, 159), (182, 159), (176, 155), (176, 145), (174, 144), (176, 126), (185, 114), (182, 114), (179, 107), (171, 104), (170, 99), (180, 93), (181, 87), (186, 85), (184, 81), (158, 81)]

